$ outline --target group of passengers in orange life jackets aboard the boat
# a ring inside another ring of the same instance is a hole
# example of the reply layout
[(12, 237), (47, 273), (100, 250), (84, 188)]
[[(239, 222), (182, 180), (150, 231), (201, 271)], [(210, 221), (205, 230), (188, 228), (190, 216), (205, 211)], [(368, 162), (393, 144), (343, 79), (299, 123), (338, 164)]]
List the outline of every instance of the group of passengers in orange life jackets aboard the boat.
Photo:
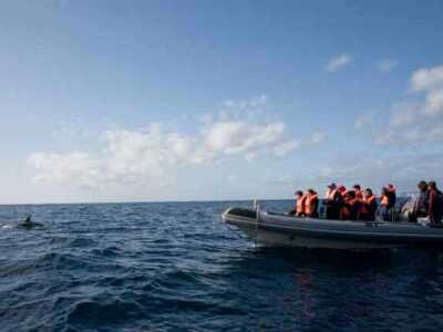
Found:
[[(411, 208), (410, 221), (416, 221), (418, 217), (429, 217), (432, 224), (440, 224), (443, 216), (443, 195), (436, 188), (435, 181), (420, 181), (419, 189), (420, 195)], [(319, 197), (316, 190), (299, 190), (295, 195), (297, 204), (290, 215), (319, 218)], [(395, 186), (384, 186), (379, 203), (371, 188), (363, 190), (360, 185), (354, 185), (348, 190), (344, 186), (332, 183), (324, 195), (324, 217), (334, 220), (374, 221), (375, 215), (379, 214), (382, 220), (393, 221), (396, 214)]]

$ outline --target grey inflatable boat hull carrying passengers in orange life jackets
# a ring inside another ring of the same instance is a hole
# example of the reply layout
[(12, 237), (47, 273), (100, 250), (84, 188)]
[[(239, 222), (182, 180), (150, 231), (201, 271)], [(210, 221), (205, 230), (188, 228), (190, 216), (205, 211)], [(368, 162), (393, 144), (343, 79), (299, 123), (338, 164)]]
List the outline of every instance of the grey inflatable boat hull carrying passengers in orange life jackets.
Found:
[(258, 243), (274, 247), (329, 249), (378, 249), (402, 247), (439, 247), (443, 249), (443, 229), (426, 222), (344, 221), (299, 218), (229, 208), (222, 215)]

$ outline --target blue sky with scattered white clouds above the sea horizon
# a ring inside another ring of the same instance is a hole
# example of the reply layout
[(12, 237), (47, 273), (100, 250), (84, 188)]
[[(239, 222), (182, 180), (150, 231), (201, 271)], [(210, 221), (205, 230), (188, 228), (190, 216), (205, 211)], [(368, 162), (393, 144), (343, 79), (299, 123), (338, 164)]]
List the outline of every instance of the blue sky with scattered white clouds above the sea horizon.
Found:
[(443, 175), (442, 1), (1, 1), (0, 203)]

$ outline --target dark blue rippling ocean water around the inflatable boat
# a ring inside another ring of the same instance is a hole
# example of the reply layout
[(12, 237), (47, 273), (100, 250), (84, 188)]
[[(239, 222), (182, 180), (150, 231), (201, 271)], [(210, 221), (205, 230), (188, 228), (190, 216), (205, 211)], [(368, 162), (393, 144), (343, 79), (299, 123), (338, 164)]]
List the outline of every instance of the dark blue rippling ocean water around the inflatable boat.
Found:
[(443, 330), (442, 253), (256, 247), (234, 205), (0, 206), (0, 331)]

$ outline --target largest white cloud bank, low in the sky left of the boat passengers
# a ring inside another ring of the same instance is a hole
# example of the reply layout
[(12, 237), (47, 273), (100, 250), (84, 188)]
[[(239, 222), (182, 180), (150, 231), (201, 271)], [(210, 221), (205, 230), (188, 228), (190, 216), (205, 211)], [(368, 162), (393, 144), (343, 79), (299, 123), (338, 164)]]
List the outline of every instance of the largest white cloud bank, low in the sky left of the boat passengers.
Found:
[[(266, 102), (260, 96), (230, 105), (239, 103), (248, 105), (246, 111), (254, 111)], [(305, 143), (287, 139), (280, 121), (251, 118), (250, 114), (241, 118), (238, 114), (225, 113), (210, 116), (210, 121), (200, 123), (189, 135), (151, 124), (140, 129), (105, 129), (100, 137), (101, 145), (94, 151), (97, 144), (91, 142), (94, 144), (90, 153), (32, 154), (28, 162), (37, 170), (33, 180), (100, 188), (134, 183), (155, 186), (167, 183), (172, 174), (183, 168), (218, 165), (230, 158), (251, 162), (262, 156), (284, 157), (302, 145), (319, 144), (324, 134), (313, 133)]]

